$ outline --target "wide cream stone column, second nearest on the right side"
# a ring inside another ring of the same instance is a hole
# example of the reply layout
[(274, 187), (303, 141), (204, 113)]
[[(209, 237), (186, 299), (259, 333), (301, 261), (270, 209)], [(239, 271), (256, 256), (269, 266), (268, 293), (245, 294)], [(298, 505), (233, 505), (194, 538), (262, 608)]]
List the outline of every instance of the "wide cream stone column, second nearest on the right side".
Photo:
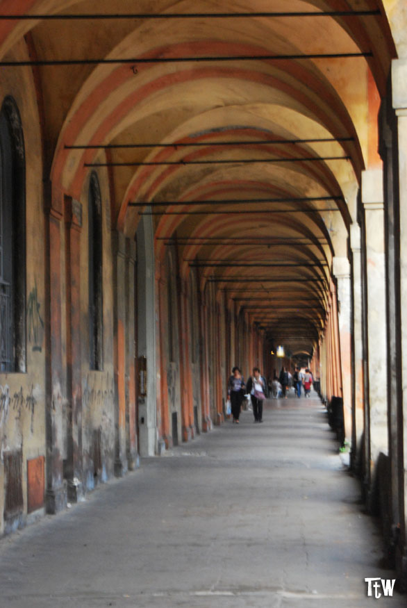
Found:
[(380, 452), (388, 453), (387, 347), (383, 172), (362, 174), (367, 274), (367, 375), (369, 380), (370, 470)]

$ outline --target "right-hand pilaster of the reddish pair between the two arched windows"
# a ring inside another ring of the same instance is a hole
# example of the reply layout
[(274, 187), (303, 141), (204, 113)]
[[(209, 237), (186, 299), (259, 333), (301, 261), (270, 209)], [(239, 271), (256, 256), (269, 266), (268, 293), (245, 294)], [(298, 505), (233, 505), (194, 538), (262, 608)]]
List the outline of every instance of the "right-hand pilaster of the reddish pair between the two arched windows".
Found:
[(83, 497), (81, 365), (81, 231), (82, 206), (65, 197), (65, 297), (67, 327), (67, 466), (68, 498)]

